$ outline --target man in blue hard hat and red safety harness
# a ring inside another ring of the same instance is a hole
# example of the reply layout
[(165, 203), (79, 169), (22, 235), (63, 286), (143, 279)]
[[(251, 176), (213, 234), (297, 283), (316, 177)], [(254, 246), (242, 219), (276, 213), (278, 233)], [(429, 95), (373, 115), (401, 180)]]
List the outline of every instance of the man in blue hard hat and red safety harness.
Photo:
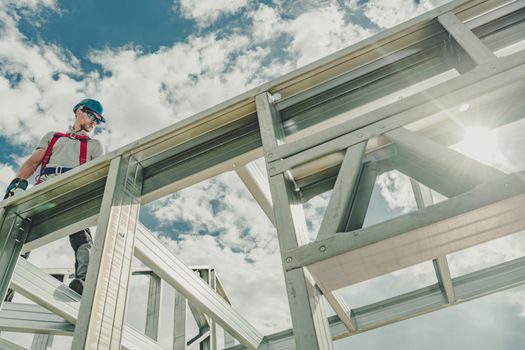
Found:
[[(75, 122), (67, 133), (51, 131), (42, 138), (34, 153), (22, 164), (16, 178), (7, 187), (4, 199), (17, 191), (25, 190), (27, 179), (39, 166), (40, 174), (36, 184), (102, 155), (100, 142), (90, 138), (94, 128), (105, 122), (102, 104), (97, 100), (84, 99), (73, 107), (73, 113)], [(89, 228), (70, 235), (69, 242), (75, 252), (75, 279), (71, 281), (69, 288), (82, 295), (93, 246)], [(12, 291), (8, 292), (6, 300), (10, 301), (12, 295)]]

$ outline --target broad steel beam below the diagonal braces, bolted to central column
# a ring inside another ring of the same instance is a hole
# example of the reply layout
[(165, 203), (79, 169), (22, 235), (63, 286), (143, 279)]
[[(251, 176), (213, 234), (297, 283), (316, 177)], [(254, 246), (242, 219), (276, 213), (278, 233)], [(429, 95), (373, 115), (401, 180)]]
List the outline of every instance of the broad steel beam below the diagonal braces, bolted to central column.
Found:
[(286, 268), (307, 266), (326, 292), (518, 232), (525, 228), (524, 175), (288, 251)]

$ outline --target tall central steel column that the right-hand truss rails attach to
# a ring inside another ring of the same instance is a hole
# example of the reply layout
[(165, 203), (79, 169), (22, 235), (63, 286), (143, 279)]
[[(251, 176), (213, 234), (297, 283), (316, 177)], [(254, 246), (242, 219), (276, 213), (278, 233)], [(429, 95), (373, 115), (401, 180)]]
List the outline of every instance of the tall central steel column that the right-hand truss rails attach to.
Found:
[[(270, 100), (268, 93), (256, 97), (268, 174), (272, 172), (271, 161), (274, 160), (270, 150), (284, 142), (282, 122)], [(269, 181), (284, 269), (285, 261), (290, 259), (285, 252), (307, 243), (306, 222), (302, 204), (285, 174), (269, 175)], [(284, 270), (284, 277), (297, 349), (332, 349), (321, 295), (310, 273), (305, 268)]]

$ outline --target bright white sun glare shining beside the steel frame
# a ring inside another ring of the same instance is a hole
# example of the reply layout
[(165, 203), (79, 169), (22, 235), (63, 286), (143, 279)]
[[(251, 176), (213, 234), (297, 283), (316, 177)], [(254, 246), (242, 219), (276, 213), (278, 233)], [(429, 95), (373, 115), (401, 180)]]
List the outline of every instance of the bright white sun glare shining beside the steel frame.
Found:
[(502, 161), (498, 138), (494, 131), (481, 127), (465, 130), (463, 141), (454, 147), (457, 151), (485, 164), (496, 165)]

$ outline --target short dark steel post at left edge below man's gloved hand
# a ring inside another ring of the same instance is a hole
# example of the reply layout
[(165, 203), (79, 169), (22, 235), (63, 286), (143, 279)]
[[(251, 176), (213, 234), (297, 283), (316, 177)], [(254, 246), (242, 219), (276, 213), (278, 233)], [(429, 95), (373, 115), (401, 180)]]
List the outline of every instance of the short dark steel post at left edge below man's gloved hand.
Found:
[(29, 219), (22, 219), (9, 209), (0, 209), (0, 305), (4, 302), (29, 225)]

